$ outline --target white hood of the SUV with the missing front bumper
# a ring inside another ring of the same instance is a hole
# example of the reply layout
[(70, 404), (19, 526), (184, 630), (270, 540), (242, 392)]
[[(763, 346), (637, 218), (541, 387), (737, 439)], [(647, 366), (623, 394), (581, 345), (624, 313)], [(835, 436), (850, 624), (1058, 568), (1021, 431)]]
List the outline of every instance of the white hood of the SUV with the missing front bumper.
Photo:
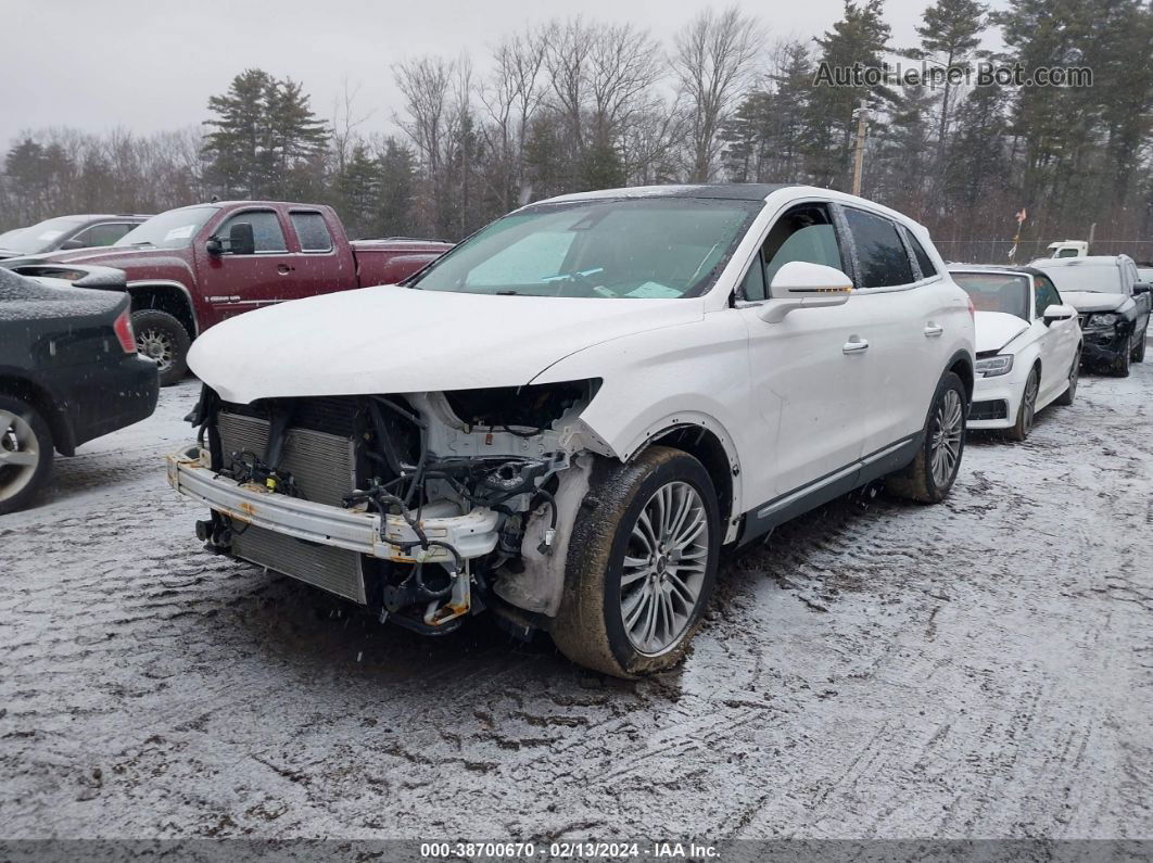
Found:
[(570, 354), (703, 317), (703, 302), (490, 296), (383, 286), (218, 324), (188, 364), (232, 402), (528, 384)]

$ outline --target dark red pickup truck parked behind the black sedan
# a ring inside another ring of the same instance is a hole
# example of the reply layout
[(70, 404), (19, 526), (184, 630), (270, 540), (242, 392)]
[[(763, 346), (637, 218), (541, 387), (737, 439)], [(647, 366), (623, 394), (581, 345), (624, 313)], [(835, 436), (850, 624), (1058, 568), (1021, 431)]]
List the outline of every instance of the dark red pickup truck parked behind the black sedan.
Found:
[(5, 265), (36, 275), (66, 274), (68, 264), (123, 270), (137, 347), (156, 359), (168, 385), (187, 371), (191, 340), (225, 318), (285, 300), (391, 285), (450, 248), (428, 240), (349, 241), (327, 206), (231, 200), (153, 215), (111, 247)]

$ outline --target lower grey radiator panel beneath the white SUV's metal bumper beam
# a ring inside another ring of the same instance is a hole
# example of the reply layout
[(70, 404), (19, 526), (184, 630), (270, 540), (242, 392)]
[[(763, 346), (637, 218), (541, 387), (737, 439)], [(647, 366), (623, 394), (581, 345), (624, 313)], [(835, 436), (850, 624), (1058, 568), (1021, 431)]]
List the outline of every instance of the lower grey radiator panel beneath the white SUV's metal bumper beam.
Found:
[(232, 553), (330, 593), (364, 605), (364, 577), (356, 552), (312, 545), (295, 537), (249, 525), (232, 535)]

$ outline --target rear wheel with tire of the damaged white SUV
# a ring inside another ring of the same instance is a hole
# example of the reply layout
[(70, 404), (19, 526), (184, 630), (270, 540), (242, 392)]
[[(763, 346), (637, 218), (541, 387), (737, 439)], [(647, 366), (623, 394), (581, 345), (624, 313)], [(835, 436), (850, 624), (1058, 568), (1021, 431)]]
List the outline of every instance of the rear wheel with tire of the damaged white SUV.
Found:
[(965, 385), (945, 372), (925, 419), (924, 440), (906, 468), (886, 477), (890, 494), (920, 504), (940, 504), (949, 494), (965, 452)]

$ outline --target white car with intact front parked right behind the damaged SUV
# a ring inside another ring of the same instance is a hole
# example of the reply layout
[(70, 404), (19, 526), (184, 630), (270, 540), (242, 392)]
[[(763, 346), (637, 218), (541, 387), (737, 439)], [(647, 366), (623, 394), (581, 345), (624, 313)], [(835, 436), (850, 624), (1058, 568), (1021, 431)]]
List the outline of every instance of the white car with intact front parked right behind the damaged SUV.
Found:
[(1077, 310), (1034, 267), (949, 268), (977, 310), (977, 385), (970, 429), (1025, 440), (1050, 402), (1072, 404), (1080, 369)]

